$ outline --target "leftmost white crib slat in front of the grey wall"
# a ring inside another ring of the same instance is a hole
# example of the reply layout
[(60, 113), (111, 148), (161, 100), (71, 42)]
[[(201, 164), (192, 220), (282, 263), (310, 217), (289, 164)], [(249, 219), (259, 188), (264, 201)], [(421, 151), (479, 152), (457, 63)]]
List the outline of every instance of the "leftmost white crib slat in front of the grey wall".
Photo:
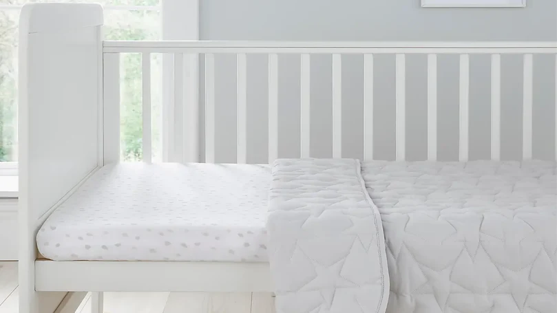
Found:
[(205, 54), (205, 162), (215, 162), (215, 56)]

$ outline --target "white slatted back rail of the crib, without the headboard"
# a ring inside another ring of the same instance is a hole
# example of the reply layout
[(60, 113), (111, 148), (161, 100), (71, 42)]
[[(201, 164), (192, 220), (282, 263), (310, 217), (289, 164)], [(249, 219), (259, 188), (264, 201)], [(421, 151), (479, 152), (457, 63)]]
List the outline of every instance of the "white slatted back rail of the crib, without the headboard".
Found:
[[(215, 106), (215, 56), (218, 54), (235, 54), (236, 56), (236, 120), (237, 120), (237, 159), (238, 163), (245, 163), (247, 160), (247, 109), (246, 109), (246, 55), (247, 54), (266, 54), (268, 56), (268, 149), (269, 162), (273, 162), (279, 156), (278, 151), (278, 69), (280, 67), (278, 56), (280, 54), (297, 54), (300, 58), (300, 117), (299, 117), (299, 156), (302, 158), (312, 156), (311, 147), (311, 58), (316, 54), (330, 54), (332, 67), (332, 84), (329, 90), (332, 94), (332, 154), (333, 158), (343, 156), (343, 123), (342, 123), (342, 58), (344, 54), (359, 54), (364, 58), (364, 159), (374, 160), (374, 80), (381, 79), (375, 77), (374, 61), (375, 56), (381, 54), (395, 55), (395, 159), (406, 160), (408, 140), (406, 140), (407, 118), (406, 113), (406, 80), (407, 66), (406, 56), (410, 54), (427, 55), (427, 160), (437, 160), (438, 156), (438, 78), (440, 70), (437, 66), (438, 56), (441, 54), (454, 54), (459, 57), (459, 153), (458, 160), (466, 161), (470, 155), (470, 56), (474, 54), (487, 54), (490, 56), (490, 133), (486, 134), (491, 139), (491, 159), (501, 160), (501, 56), (519, 55), (523, 59), (523, 120), (522, 120), (522, 158), (523, 160), (532, 159), (533, 125), (533, 65), (535, 54), (549, 54), (556, 57), (557, 43), (555, 42), (485, 42), (485, 43), (462, 43), (462, 42), (433, 42), (433, 43), (338, 43), (338, 42), (250, 42), (250, 41), (105, 41), (105, 72), (111, 72), (111, 76), (105, 76), (105, 91), (116, 88), (113, 82), (118, 79), (118, 73), (113, 69), (118, 68), (117, 55), (120, 53), (141, 53), (143, 54), (143, 149), (144, 161), (150, 161), (150, 142), (149, 132), (149, 85), (150, 81), (145, 77), (149, 76), (148, 56), (154, 53), (169, 54), (174, 60), (174, 91), (170, 96), (172, 105), (169, 108), (170, 115), (174, 114), (176, 106), (183, 106), (182, 114), (178, 118), (165, 120), (167, 125), (167, 144), (170, 153), (167, 161), (176, 162), (198, 162), (198, 137), (200, 129), (198, 127), (198, 76), (196, 60), (199, 55), (204, 56), (204, 161), (215, 162), (216, 160), (216, 106)], [(108, 62), (107, 62), (108, 61)], [(557, 64), (557, 58), (556, 58)], [(107, 68), (109, 66), (109, 68)], [(557, 77), (557, 65), (549, 69), (553, 76)], [(195, 76), (195, 77), (193, 77)], [(556, 78), (557, 81), (557, 78)], [(557, 85), (557, 84), (556, 84)], [(557, 89), (557, 87), (556, 87)], [(116, 89), (111, 91), (109, 99), (105, 98), (105, 111), (118, 107)], [(557, 91), (556, 91), (557, 94)], [(556, 96), (557, 98), (557, 96)], [(108, 101), (107, 101), (108, 100)], [(556, 100), (557, 103), (557, 100)], [(106, 108), (106, 106), (109, 108)], [(557, 109), (556, 109), (557, 112)], [(557, 114), (555, 117), (557, 120)], [(118, 122), (106, 125), (105, 129), (116, 129)], [(179, 127), (177, 126), (179, 125)], [(175, 127), (178, 127), (176, 131)], [(556, 127), (557, 129), (557, 127)], [(112, 133), (112, 131), (111, 131)], [(174, 151), (178, 140), (178, 147), (183, 151)], [(557, 130), (554, 136), (557, 141)], [(174, 143), (174, 144), (170, 144)], [(114, 151), (112, 158), (118, 159), (118, 144), (114, 142), (113, 147), (105, 148), (106, 151)], [(557, 143), (556, 158), (557, 158)], [(145, 153), (147, 152), (147, 153)], [(147, 155), (147, 156), (145, 156)], [(176, 157), (176, 155), (178, 155)]]

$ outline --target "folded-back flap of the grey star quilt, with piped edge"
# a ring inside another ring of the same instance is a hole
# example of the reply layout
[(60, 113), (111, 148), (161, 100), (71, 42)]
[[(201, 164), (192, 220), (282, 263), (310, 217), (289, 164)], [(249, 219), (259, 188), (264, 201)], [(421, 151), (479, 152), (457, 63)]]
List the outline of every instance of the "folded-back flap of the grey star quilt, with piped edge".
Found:
[(277, 313), (383, 313), (388, 269), (381, 219), (357, 160), (277, 160), (269, 263)]

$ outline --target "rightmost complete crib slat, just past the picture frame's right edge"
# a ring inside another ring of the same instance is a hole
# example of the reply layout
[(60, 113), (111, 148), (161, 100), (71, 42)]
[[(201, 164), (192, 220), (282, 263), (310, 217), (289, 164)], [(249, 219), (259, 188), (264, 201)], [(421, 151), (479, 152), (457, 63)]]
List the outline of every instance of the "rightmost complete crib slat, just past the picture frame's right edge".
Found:
[(522, 158), (532, 159), (532, 54), (524, 55), (523, 72), (523, 124), (522, 124)]

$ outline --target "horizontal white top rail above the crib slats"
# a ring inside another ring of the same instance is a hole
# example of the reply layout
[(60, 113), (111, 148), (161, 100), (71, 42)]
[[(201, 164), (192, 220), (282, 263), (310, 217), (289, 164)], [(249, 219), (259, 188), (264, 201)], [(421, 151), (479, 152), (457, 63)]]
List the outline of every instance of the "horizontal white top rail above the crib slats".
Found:
[(399, 42), (399, 41), (104, 41), (104, 52), (196, 53), (556, 53), (557, 41), (540, 42)]

